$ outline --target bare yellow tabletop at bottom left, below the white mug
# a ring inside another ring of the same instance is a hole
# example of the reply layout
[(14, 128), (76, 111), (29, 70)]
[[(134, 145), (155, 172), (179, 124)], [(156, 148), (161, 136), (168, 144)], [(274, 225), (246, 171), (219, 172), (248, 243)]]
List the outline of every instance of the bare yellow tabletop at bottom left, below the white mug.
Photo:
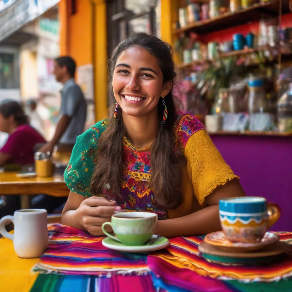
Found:
[(31, 272), (38, 258), (19, 258), (13, 249), (13, 242), (0, 238), (0, 290), (2, 292), (29, 292), (37, 274)]

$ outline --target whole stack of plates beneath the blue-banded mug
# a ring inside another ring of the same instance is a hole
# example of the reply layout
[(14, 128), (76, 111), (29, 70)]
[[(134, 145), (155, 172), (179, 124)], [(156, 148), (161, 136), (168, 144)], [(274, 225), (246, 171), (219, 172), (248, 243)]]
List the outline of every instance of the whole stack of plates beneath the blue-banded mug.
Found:
[(251, 265), (271, 262), (276, 256), (290, 252), (289, 244), (279, 241), (279, 236), (266, 232), (257, 243), (247, 244), (229, 241), (223, 231), (206, 235), (199, 251), (209, 262), (223, 265)]

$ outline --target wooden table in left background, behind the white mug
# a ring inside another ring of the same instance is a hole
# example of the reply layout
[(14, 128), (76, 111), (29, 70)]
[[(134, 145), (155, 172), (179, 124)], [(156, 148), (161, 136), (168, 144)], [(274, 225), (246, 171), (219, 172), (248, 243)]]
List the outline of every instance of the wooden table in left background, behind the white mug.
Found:
[(19, 178), (17, 172), (0, 172), (0, 195), (21, 195), (22, 209), (29, 208), (29, 196), (46, 194), (53, 197), (66, 197), (69, 189), (63, 175), (49, 178)]

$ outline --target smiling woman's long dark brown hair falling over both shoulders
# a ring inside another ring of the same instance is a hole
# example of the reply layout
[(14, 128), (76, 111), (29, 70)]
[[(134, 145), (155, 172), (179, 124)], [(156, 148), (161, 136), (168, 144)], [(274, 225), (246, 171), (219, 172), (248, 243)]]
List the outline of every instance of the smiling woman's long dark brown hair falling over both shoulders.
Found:
[[(146, 33), (137, 33), (129, 36), (114, 49), (109, 59), (109, 94), (114, 101), (112, 79), (117, 58), (127, 48), (140, 46), (147, 49), (159, 62), (163, 73), (163, 81), (174, 81), (176, 73), (171, 55), (171, 46), (156, 36)], [(180, 192), (182, 182), (182, 165), (185, 164), (184, 155), (175, 149), (173, 125), (176, 120), (175, 103), (171, 91), (165, 96), (168, 118), (165, 125), (161, 125), (159, 133), (150, 150), (151, 179), (150, 187), (153, 190), (157, 204), (168, 209), (177, 208), (183, 201)], [(109, 184), (116, 196), (119, 196), (120, 180), (122, 175), (123, 137), (126, 128), (123, 125), (121, 109), (114, 119), (115, 104), (108, 111), (107, 129), (100, 135), (98, 141), (95, 170), (91, 179), (91, 193), (101, 194), (106, 184)], [(164, 107), (162, 98), (158, 103), (159, 121), (162, 120)]]

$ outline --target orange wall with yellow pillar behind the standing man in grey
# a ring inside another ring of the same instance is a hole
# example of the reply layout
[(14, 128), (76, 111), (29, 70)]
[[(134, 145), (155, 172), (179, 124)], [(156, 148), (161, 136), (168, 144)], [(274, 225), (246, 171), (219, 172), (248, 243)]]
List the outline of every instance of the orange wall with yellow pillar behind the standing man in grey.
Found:
[[(76, 2), (74, 15), (71, 15), (71, 1), (59, 2), (61, 54), (72, 56), (77, 66), (93, 64), (95, 119), (100, 121), (107, 116), (106, 0), (76, 0)], [(95, 30), (94, 36), (93, 30)]]

